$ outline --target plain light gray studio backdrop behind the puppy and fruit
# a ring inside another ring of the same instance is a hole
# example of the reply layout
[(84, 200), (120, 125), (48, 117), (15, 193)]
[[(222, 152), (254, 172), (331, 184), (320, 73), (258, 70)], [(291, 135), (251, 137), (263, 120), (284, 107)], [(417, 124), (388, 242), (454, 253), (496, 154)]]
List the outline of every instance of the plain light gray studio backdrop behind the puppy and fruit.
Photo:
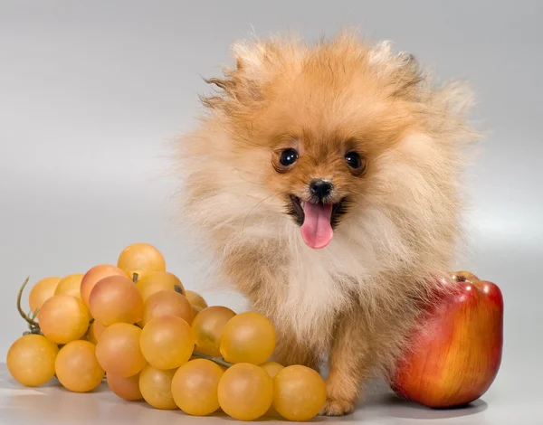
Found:
[[(166, 143), (190, 128), (252, 32), (316, 39), (345, 24), (395, 42), (443, 79), (471, 80), (487, 134), (471, 170), (472, 250), (464, 268), (502, 288), (505, 351), (489, 397), (543, 378), (543, 142), (538, 1), (0, 2), (0, 361), (24, 330), (14, 301), (31, 279), (115, 262), (157, 245), (203, 288), (193, 241), (173, 225)], [(204, 292), (240, 309), (235, 295)], [(512, 397), (513, 395), (511, 395)], [(501, 401), (498, 401), (501, 402)]]

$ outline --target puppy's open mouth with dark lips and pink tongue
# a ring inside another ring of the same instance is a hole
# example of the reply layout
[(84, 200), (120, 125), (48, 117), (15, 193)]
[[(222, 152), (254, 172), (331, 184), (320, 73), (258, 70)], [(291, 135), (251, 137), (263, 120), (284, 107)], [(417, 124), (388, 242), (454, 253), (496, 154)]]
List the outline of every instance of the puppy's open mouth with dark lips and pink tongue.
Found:
[(315, 250), (326, 247), (334, 237), (339, 219), (347, 213), (347, 198), (338, 203), (304, 202), (298, 196), (290, 195), (289, 213), (300, 225), (301, 237)]

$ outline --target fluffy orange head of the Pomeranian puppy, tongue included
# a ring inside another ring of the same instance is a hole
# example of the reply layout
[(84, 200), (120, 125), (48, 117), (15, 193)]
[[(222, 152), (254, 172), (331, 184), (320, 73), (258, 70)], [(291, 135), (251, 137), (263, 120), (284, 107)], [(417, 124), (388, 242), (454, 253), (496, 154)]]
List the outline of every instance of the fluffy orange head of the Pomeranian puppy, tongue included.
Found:
[[(293, 222), (313, 249), (349, 218), (367, 232), (360, 238), (381, 231), (403, 247), (416, 231), (452, 237), (455, 166), (472, 136), (463, 93), (433, 90), (411, 55), (350, 35), (237, 44), (234, 53), (236, 66), (208, 80), (219, 93), (203, 98), (211, 113), (186, 140), (189, 161), (209, 160), (190, 169), (196, 214), (239, 231)], [(205, 209), (212, 198), (214, 213)], [(373, 224), (360, 224), (364, 212)], [(370, 229), (384, 223), (389, 231)]]

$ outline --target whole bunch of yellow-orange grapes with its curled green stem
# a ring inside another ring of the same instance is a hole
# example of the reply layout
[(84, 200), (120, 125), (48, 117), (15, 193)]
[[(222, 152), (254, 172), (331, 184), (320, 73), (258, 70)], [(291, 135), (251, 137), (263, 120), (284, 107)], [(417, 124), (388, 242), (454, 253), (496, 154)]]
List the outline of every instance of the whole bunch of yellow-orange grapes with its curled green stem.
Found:
[(127, 401), (195, 416), (222, 410), (237, 420), (310, 420), (326, 401), (319, 373), (270, 361), (270, 320), (208, 307), (152, 245), (130, 245), (117, 266), (38, 281), (28, 315), (27, 282), (17, 307), (30, 331), (7, 354), (9, 372), (26, 386), (56, 376), (72, 392), (90, 392), (106, 379)]

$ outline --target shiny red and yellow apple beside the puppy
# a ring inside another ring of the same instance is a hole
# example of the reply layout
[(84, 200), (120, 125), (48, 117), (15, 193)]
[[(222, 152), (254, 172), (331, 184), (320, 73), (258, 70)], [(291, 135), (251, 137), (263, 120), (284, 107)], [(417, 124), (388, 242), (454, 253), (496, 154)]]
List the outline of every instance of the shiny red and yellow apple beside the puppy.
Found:
[(427, 307), (391, 380), (400, 396), (435, 409), (480, 398), (500, 369), (503, 345), (498, 286), (469, 272), (440, 284), (452, 290)]

